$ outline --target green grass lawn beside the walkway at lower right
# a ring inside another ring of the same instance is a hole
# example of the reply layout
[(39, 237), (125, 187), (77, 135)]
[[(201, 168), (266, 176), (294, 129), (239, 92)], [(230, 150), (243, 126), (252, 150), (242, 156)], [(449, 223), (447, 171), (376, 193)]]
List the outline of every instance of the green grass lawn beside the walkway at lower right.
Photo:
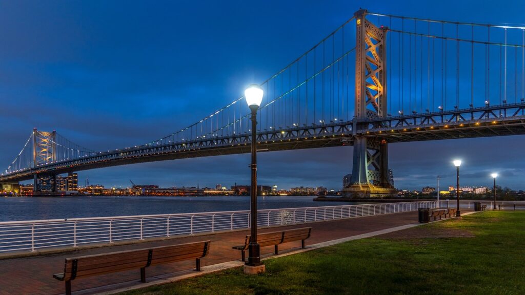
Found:
[(486, 211), (138, 294), (525, 294), (525, 212)]

